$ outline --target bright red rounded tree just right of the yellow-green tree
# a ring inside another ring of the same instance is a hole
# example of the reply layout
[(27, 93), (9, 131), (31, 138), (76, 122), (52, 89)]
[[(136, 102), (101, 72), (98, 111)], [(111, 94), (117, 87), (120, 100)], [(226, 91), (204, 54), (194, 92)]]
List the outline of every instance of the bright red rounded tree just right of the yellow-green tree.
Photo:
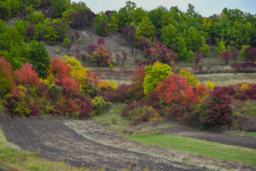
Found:
[(167, 104), (182, 104), (193, 98), (193, 88), (188, 86), (188, 80), (178, 74), (171, 74), (162, 83), (157, 84), (157, 95)]

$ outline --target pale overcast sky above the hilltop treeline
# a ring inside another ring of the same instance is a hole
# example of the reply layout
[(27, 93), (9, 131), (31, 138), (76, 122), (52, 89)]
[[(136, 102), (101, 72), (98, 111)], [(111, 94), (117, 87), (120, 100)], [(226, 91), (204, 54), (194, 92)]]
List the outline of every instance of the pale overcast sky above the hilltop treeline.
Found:
[[(125, 6), (128, 0), (71, 0), (75, 2), (82, 1), (93, 11), (98, 13), (100, 11), (116, 10)], [(131, 0), (130, 0), (131, 1)], [(256, 14), (255, 0), (133, 0), (137, 7), (143, 7), (145, 10), (155, 9), (157, 6), (165, 6), (169, 9), (171, 6), (177, 6), (181, 11), (188, 9), (188, 3), (194, 6), (196, 12), (203, 17), (209, 17), (213, 14), (221, 14), (221, 11), (227, 9), (239, 9), (244, 13)]]

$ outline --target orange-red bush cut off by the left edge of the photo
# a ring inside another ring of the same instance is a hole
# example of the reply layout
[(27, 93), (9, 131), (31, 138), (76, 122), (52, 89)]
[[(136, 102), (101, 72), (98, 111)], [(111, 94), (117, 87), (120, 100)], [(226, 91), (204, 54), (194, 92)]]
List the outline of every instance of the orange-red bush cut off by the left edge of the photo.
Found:
[(9, 89), (12, 89), (14, 87), (13, 68), (11, 67), (11, 63), (6, 62), (5, 58), (3, 57), (0, 58), (0, 75), (6, 79), (6, 86)]

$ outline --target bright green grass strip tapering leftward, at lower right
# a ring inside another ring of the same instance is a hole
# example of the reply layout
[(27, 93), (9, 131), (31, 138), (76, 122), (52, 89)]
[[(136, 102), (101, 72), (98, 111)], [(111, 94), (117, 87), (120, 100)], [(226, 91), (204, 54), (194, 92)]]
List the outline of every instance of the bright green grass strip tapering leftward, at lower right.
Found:
[(238, 161), (256, 166), (256, 150), (232, 145), (211, 143), (197, 139), (169, 135), (133, 135), (127, 136), (133, 141), (147, 145), (162, 146), (174, 150), (201, 154), (208, 157)]

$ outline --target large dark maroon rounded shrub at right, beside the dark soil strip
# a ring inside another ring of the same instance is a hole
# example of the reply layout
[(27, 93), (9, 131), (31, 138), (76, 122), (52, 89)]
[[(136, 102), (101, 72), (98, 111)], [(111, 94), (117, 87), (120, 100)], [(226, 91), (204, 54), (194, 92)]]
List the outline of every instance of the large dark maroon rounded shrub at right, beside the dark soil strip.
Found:
[(226, 93), (218, 87), (215, 87), (210, 95), (200, 104), (198, 112), (200, 119), (206, 128), (230, 125), (232, 109), (230, 107), (231, 99)]

